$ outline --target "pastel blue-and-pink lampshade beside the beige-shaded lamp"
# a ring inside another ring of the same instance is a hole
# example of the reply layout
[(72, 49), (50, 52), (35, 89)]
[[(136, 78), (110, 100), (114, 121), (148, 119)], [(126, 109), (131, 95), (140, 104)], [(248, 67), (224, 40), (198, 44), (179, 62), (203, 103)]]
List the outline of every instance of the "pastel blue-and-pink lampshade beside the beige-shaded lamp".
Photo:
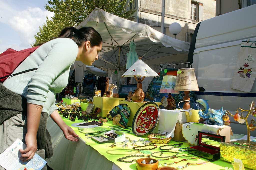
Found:
[(159, 93), (175, 93), (178, 94), (178, 91), (174, 91), (176, 82), (176, 76), (167, 75), (163, 77), (161, 89)]

